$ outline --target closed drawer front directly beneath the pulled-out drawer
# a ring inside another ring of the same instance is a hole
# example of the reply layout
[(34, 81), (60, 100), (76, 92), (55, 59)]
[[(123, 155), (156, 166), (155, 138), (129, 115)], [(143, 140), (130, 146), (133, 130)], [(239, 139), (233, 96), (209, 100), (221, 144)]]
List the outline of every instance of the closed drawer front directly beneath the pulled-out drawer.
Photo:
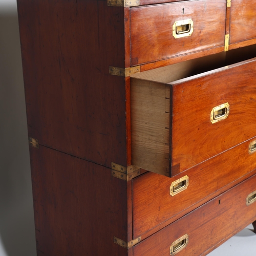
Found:
[[(247, 174), (256, 169), (256, 154), (248, 152), (250, 143), (256, 143), (255, 139), (256, 137), (173, 178), (147, 173), (134, 179), (134, 237), (149, 236), (163, 225), (195, 209), (199, 202), (202, 204), (202, 201), (208, 201), (245, 179)], [(182, 181), (183, 177), (185, 181)], [(185, 183), (188, 184), (187, 187)], [(170, 195), (173, 191), (176, 193)]]

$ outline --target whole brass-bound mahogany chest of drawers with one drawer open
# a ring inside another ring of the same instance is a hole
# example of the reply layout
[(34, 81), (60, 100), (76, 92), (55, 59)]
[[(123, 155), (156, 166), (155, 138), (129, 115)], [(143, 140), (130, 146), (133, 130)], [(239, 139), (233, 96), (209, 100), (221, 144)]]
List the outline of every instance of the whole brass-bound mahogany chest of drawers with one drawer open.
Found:
[(37, 255), (206, 255), (255, 226), (256, 2), (17, 4)]

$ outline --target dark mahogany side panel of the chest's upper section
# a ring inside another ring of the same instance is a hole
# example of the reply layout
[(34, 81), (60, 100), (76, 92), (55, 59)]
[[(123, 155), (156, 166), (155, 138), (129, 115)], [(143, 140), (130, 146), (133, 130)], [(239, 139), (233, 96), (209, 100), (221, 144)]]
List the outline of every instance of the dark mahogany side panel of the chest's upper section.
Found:
[(126, 166), (124, 10), (95, 0), (18, 0), (29, 136)]

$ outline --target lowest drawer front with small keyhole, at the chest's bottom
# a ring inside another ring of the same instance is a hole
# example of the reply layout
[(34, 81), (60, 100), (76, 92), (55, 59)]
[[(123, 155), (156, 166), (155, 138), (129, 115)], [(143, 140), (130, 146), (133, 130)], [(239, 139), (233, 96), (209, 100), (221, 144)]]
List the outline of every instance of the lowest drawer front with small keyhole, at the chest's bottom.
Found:
[(183, 242), (180, 241), (183, 249), (177, 255), (209, 253), (214, 246), (256, 220), (255, 193), (254, 175), (135, 245), (133, 255), (170, 255), (172, 244), (184, 235), (187, 235), (188, 240), (183, 238)]

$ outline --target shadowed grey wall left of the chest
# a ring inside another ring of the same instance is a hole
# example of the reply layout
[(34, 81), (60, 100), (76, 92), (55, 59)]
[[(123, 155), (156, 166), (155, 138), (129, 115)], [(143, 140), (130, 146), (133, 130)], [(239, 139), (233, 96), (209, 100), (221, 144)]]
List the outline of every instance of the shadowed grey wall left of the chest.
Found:
[(0, 256), (34, 256), (35, 232), (17, 14), (0, 10)]

